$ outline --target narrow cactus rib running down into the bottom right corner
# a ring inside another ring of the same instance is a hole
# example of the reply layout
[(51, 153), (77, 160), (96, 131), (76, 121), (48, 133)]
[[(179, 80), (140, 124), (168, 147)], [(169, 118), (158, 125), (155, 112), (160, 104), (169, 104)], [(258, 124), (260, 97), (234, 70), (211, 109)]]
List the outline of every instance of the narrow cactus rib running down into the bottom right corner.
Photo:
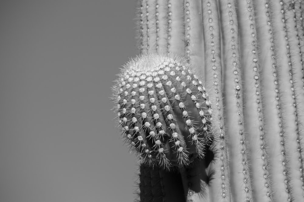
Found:
[[(298, 186), (300, 180), (299, 177), (296, 177), (299, 174), (296, 174), (299, 172), (299, 168), (296, 169), (298, 164), (298, 158), (295, 158), (295, 155), (293, 155), (294, 152), (296, 152), (297, 143), (295, 141), (295, 133), (297, 131), (297, 126), (295, 124), (296, 117), (293, 114), (295, 111), (295, 106), (292, 105), (294, 103), (294, 92), (293, 92), (293, 84), (292, 84), (292, 63), (290, 61), (290, 52), (288, 50), (288, 47), (290, 46), (288, 43), (288, 33), (287, 33), (287, 27), (286, 27), (286, 18), (284, 15), (284, 7), (283, 2), (276, 2), (273, 3), (272, 7), (274, 8), (274, 11), (276, 14), (274, 21), (275, 21), (275, 32), (274, 36), (278, 41), (276, 42), (277, 46), (277, 58), (281, 65), (280, 69), (280, 77), (279, 81), (281, 83), (284, 82), (284, 85), (280, 85), (280, 88), (282, 92), (284, 92), (284, 99), (281, 99), (282, 101), (282, 108), (284, 112), (282, 113), (282, 119), (284, 121), (284, 130), (285, 130), (285, 141), (288, 143), (286, 145), (286, 151), (282, 151), (282, 155), (287, 157), (288, 161), (288, 170), (284, 171), (285, 180), (287, 180), (288, 188), (286, 189), (286, 192), (288, 194), (289, 200), (294, 200), (295, 193), (299, 194), (299, 188)], [(289, 113), (286, 113), (289, 112)], [(299, 181), (298, 181), (299, 180)], [(296, 185), (296, 186), (295, 186)], [(301, 190), (302, 192), (302, 190)], [(296, 197), (298, 198), (298, 197)]]

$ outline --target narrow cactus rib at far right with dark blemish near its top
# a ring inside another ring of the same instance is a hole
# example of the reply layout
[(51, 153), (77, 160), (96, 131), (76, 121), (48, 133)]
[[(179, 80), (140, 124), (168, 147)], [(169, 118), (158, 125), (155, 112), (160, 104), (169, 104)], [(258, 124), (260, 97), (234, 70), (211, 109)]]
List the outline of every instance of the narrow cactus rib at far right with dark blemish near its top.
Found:
[[(299, 136), (299, 122), (301, 123), (298, 119), (298, 104), (299, 104), (299, 99), (304, 100), (303, 94), (302, 94), (302, 89), (298, 88), (297, 84), (301, 84), (301, 64), (300, 64), (300, 59), (298, 54), (295, 54), (296, 52), (299, 52), (298, 50), (298, 42), (296, 40), (290, 40), (291, 38), (296, 38), (296, 35), (292, 37), (293, 34), (296, 34), (295, 31), (295, 20), (294, 20), (294, 4), (291, 4), (290, 2), (285, 2), (281, 1), (281, 15), (282, 15), (282, 25), (283, 25), (283, 31), (285, 32), (285, 54), (286, 54), (286, 60), (288, 61), (288, 65), (286, 65), (284, 68), (282, 67), (282, 70), (285, 71), (286, 75), (289, 75), (288, 80), (285, 80), (287, 83), (289, 81), (289, 85), (286, 85), (285, 87), (288, 86), (288, 92), (289, 96), (291, 96), (291, 99), (288, 100), (286, 99), (286, 102), (290, 106), (292, 104), (292, 107), (289, 108), (289, 106), (286, 106), (286, 109), (290, 112), (292, 112), (291, 116), (288, 116), (286, 114), (285, 119), (288, 119), (288, 121), (293, 121), (293, 123), (288, 124), (288, 129), (290, 128), (290, 131), (288, 130), (288, 139), (290, 141), (290, 147), (292, 148), (292, 153), (296, 153), (297, 155), (291, 155), (290, 156), (290, 164), (291, 164), (291, 178), (294, 179), (292, 180), (291, 184), (293, 188), (293, 193), (294, 195), (299, 195), (299, 196), (294, 196), (295, 198), (298, 198), (302, 195), (302, 199), (304, 200), (303, 197), (303, 190), (302, 190), (302, 182), (301, 178), (303, 179), (303, 173), (301, 172), (303, 168), (302, 164), (302, 154), (301, 154), (301, 144), (300, 144), (300, 136)], [(282, 43), (284, 44), (284, 43)], [(298, 71), (299, 70), (299, 71)], [(300, 78), (298, 79), (298, 76), (300, 75)], [(300, 90), (300, 93), (299, 91)], [(302, 99), (301, 99), (302, 98)], [(300, 161), (299, 161), (300, 160)]]

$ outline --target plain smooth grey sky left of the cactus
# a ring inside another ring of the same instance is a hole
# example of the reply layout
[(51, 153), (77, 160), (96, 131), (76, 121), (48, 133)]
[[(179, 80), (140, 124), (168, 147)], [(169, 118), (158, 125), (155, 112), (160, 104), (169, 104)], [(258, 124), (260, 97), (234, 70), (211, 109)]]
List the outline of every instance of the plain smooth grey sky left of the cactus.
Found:
[(0, 1), (0, 201), (133, 201), (110, 87), (138, 54), (134, 0)]

